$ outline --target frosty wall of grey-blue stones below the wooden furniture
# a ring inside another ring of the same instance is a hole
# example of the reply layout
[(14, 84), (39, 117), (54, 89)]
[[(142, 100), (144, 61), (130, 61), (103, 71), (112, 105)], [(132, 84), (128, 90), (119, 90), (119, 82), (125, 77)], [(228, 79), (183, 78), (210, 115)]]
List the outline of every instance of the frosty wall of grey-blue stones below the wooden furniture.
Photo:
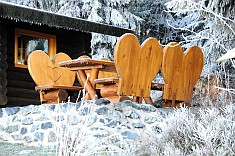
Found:
[(0, 142), (55, 147), (62, 133), (81, 129), (84, 118), (88, 129), (97, 124), (114, 129), (122, 125), (126, 128), (121, 132), (124, 138), (141, 140), (148, 131), (159, 131), (157, 125), (165, 112), (147, 104), (110, 104), (103, 99), (0, 108)]

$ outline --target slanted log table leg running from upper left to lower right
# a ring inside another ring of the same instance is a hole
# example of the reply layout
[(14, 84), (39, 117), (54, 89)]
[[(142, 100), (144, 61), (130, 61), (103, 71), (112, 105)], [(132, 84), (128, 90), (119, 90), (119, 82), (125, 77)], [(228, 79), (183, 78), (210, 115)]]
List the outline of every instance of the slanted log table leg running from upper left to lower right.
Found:
[[(92, 100), (97, 100), (98, 96), (96, 94), (95, 89), (93, 88), (92, 84), (90, 83), (90, 81), (87, 81), (87, 76), (84, 70), (78, 70), (78, 74), (83, 82), (83, 84), (85, 85), (84, 88), (85, 90), (89, 93), (90, 97)], [(87, 82), (86, 82), (87, 81)]]

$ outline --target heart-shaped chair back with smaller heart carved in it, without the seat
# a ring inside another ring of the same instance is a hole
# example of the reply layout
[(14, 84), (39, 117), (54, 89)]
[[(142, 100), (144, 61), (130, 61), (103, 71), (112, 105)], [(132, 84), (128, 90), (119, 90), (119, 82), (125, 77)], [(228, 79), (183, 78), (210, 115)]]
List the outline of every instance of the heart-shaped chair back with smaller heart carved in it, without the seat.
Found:
[(75, 73), (59, 66), (59, 62), (68, 60), (71, 58), (65, 53), (58, 53), (51, 60), (45, 52), (36, 50), (28, 57), (28, 70), (38, 86), (49, 84), (72, 86)]

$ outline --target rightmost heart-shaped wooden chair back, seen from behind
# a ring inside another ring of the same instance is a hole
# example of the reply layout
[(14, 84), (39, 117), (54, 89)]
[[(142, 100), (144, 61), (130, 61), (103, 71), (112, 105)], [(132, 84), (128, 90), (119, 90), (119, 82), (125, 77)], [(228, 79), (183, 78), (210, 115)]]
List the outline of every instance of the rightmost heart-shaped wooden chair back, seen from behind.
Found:
[(172, 42), (164, 48), (162, 74), (165, 81), (163, 99), (189, 102), (193, 87), (199, 79), (204, 64), (201, 48), (182, 47)]

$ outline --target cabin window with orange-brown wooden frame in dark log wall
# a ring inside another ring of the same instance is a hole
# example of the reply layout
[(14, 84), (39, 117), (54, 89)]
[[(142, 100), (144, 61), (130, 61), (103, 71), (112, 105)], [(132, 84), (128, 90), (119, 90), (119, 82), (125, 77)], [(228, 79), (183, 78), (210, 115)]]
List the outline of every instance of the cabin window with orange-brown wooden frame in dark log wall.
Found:
[(56, 54), (56, 36), (16, 28), (15, 67), (27, 68), (28, 56), (35, 50), (42, 50), (50, 58), (54, 57)]

